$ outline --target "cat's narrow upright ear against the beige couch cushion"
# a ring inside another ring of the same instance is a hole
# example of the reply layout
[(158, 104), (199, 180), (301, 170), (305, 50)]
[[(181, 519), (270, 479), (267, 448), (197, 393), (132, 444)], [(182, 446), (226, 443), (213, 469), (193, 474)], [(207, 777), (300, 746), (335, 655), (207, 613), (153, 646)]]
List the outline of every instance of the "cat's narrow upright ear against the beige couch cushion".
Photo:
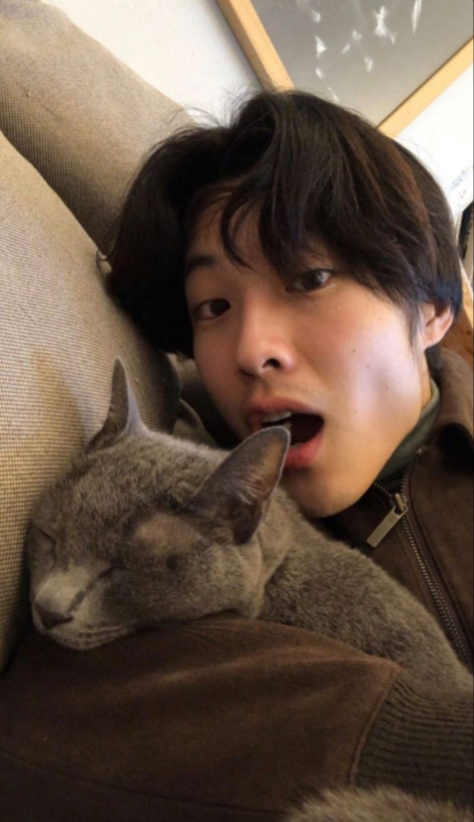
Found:
[(108, 448), (122, 434), (142, 431), (143, 427), (127, 372), (122, 361), (116, 359), (113, 365), (112, 393), (107, 418), (100, 431), (85, 446), (85, 452), (89, 454), (90, 451)]

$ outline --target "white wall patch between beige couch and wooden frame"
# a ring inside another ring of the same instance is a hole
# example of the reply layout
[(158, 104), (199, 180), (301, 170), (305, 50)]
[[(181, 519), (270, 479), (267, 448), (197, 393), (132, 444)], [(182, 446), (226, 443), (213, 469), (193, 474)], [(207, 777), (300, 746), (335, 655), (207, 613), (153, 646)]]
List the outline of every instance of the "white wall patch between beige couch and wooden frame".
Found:
[(186, 108), (220, 118), (229, 99), (260, 89), (214, 0), (48, 2)]

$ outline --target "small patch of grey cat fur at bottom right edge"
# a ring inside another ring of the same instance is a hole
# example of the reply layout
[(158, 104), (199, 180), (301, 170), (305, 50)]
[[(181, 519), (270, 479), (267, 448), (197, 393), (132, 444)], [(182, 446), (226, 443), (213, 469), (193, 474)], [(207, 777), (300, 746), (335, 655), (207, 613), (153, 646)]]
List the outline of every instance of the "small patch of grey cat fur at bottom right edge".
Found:
[(412, 797), (396, 787), (325, 791), (284, 822), (472, 822), (471, 810), (452, 802)]

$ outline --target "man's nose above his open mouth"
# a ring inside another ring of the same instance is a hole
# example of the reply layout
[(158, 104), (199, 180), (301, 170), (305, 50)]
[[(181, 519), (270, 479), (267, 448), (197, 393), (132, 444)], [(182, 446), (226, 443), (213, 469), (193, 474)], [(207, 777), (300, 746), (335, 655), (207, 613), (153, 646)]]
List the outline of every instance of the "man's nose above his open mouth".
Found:
[(238, 370), (251, 376), (292, 369), (291, 338), (276, 312), (260, 308), (246, 313), (239, 328), (236, 359)]

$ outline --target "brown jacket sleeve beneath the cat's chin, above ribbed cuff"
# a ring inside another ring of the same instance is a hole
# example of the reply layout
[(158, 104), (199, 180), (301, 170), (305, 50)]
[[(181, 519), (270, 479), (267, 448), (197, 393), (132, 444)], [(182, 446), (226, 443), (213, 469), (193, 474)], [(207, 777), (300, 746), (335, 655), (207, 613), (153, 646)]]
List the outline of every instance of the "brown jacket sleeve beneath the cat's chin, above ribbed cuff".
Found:
[(277, 822), (301, 796), (356, 779), (397, 671), (306, 630), (228, 617), (85, 652), (32, 634), (0, 677), (3, 818)]

